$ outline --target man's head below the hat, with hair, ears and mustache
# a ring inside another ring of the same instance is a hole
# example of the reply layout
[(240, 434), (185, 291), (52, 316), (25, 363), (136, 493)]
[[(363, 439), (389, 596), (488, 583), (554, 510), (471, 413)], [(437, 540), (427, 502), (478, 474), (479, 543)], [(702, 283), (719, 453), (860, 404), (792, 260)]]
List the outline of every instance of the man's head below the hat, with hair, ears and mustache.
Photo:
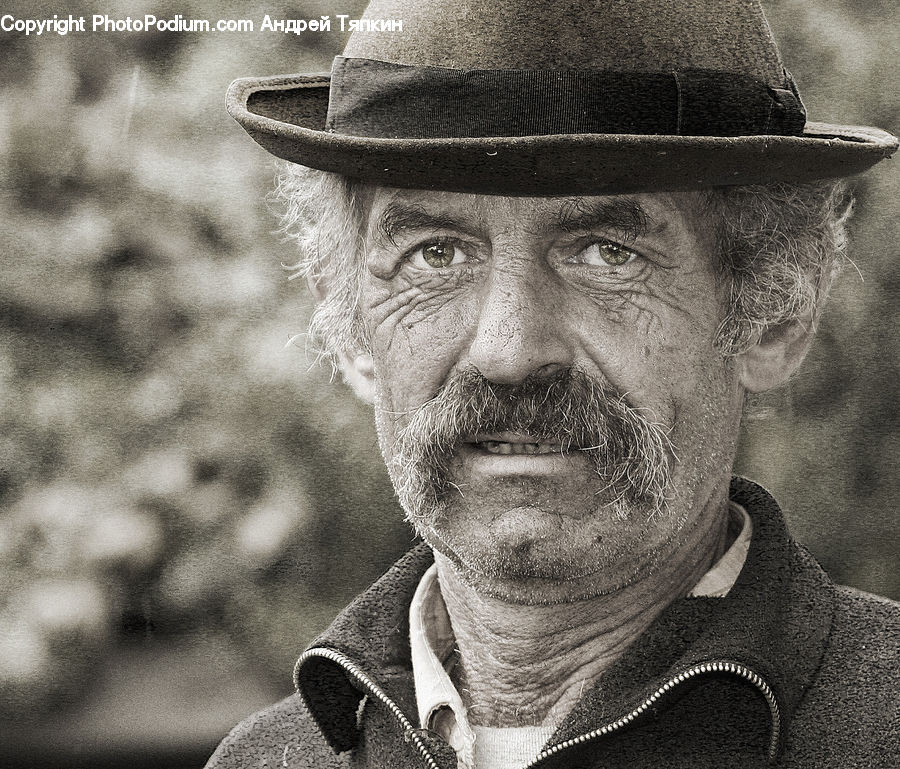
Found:
[(281, 185), (313, 328), (374, 401), (408, 516), (530, 600), (613, 590), (710, 525), (744, 390), (807, 348), (841, 190), (478, 196), (296, 168)]

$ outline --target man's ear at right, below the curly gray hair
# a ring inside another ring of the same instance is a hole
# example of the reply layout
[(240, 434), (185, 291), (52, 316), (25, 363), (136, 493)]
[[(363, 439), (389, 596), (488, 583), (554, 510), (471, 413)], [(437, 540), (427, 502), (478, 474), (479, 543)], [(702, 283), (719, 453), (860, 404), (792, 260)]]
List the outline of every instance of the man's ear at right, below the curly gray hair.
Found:
[(766, 329), (752, 347), (737, 356), (744, 389), (757, 393), (787, 382), (806, 357), (814, 325), (810, 314)]

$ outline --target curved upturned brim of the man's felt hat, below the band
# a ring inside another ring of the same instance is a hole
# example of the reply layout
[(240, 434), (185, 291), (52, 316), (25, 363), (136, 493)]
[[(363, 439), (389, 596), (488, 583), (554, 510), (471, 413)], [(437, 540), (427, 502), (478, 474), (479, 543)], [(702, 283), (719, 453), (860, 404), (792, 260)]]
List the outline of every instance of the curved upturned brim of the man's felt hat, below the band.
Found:
[(226, 106), (284, 160), (386, 187), (451, 192), (600, 195), (801, 183), (861, 173), (898, 144), (878, 128), (813, 122), (801, 136), (347, 136), (324, 130), (329, 84), (328, 74), (241, 78)]

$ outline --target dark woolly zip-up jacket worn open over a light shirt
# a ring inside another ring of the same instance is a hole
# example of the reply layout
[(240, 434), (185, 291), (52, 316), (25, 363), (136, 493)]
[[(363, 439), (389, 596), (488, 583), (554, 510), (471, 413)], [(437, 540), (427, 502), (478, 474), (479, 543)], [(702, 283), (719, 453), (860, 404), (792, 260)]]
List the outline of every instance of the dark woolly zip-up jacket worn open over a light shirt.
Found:
[[(754, 531), (729, 595), (666, 609), (536, 765), (900, 767), (900, 606), (832, 584), (760, 487), (731, 494)], [(411, 723), (408, 611), (430, 563), (416, 548), (360, 595), (298, 661), (299, 696), (237, 726), (208, 767), (454, 767)]]

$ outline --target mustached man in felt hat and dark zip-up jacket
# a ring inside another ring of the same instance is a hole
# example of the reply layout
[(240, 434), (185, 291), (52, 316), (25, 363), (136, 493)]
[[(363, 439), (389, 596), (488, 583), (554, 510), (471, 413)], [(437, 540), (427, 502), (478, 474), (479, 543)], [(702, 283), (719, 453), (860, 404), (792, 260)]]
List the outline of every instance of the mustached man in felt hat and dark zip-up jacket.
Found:
[(835, 179), (896, 140), (806, 122), (751, 2), (366, 18), (403, 29), (229, 106), (303, 166), (313, 331), (426, 545), (210, 766), (896, 766), (897, 606), (730, 479), (745, 393), (810, 343)]

